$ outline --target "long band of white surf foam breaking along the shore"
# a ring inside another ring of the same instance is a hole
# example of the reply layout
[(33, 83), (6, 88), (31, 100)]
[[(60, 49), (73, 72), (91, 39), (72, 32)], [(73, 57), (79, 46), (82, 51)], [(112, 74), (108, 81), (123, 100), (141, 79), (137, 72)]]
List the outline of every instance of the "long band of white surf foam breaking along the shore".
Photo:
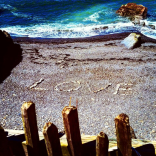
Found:
[[(28, 37), (41, 37), (41, 38), (77, 38), (77, 37), (90, 37), (97, 35), (106, 35), (121, 32), (140, 31), (142, 34), (156, 39), (156, 30), (150, 27), (135, 26), (133, 23), (117, 23), (117, 24), (39, 24), (27, 27), (12, 26), (1, 28), (8, 31), (11, 36), (28, 36)], [(12, 33), (14, 32), (14, 34)]]

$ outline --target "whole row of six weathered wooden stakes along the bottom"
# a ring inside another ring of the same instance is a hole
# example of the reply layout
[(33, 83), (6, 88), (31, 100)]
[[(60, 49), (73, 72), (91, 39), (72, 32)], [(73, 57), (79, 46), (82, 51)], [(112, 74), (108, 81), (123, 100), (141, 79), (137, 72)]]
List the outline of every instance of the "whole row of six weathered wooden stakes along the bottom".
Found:
[[(25, 102), (21, 107), (25, 141), (22, 146), (26, 156), (41, 156), (35, 104)], [(71, 156), (83, 156), (82, 140), (79, 129), (78, 112), (75, 106), (66, 106), (62, 111), (64, 129)], [(115, 118), (117, 146), (119, 155), (131, 156), (131, 134), (129, 117), (120, 114)], [(57, 127), (48, 122), (43, 128), (43, 136), (48, 156), (63, 156)], [(96, 156), (108, 156), (109, 140), (104, 132), (96, 138)], [(0, 156), (13, 156), (4, 129), (0, 127)]]

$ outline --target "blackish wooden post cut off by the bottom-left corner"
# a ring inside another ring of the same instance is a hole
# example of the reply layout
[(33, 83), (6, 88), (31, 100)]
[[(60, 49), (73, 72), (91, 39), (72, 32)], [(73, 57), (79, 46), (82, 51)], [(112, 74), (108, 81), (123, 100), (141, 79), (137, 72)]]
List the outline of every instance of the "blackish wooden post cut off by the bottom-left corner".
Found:
[(0, 126), (0, 156), (13, 156), (4, 129)]

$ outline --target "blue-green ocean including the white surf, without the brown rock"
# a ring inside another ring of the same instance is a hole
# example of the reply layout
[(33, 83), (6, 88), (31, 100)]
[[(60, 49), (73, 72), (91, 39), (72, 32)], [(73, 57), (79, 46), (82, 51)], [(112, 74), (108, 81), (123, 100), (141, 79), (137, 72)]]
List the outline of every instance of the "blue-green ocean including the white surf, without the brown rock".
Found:
[(156, 39), (156, 30), (134, 25), (116, 10), (134, 2), (148, 8), (146, 25), (156, 27), (153, 0), (0, 0), (0, 29), (12, 37), (78, 38), (139, 31)]

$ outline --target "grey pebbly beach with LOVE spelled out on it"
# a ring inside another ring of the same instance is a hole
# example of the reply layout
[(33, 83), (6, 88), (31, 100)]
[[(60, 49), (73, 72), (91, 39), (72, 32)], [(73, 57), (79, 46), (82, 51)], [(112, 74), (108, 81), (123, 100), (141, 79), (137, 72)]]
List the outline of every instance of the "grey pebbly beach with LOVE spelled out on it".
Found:
[(23, 129), (21, 106), (33, 101), (39, 131), (48, 121), (63, 131), (62, 110), (71, 97), (81, 133), (115, 138), (114, 118), (125, 113), (138, 139), (155, 140), (156, 40), (142, 35), (141, 46), (128, 50), (121, 44), (128, 34), (15, 38), (23, 60), (0, 84), (2, 127)]

